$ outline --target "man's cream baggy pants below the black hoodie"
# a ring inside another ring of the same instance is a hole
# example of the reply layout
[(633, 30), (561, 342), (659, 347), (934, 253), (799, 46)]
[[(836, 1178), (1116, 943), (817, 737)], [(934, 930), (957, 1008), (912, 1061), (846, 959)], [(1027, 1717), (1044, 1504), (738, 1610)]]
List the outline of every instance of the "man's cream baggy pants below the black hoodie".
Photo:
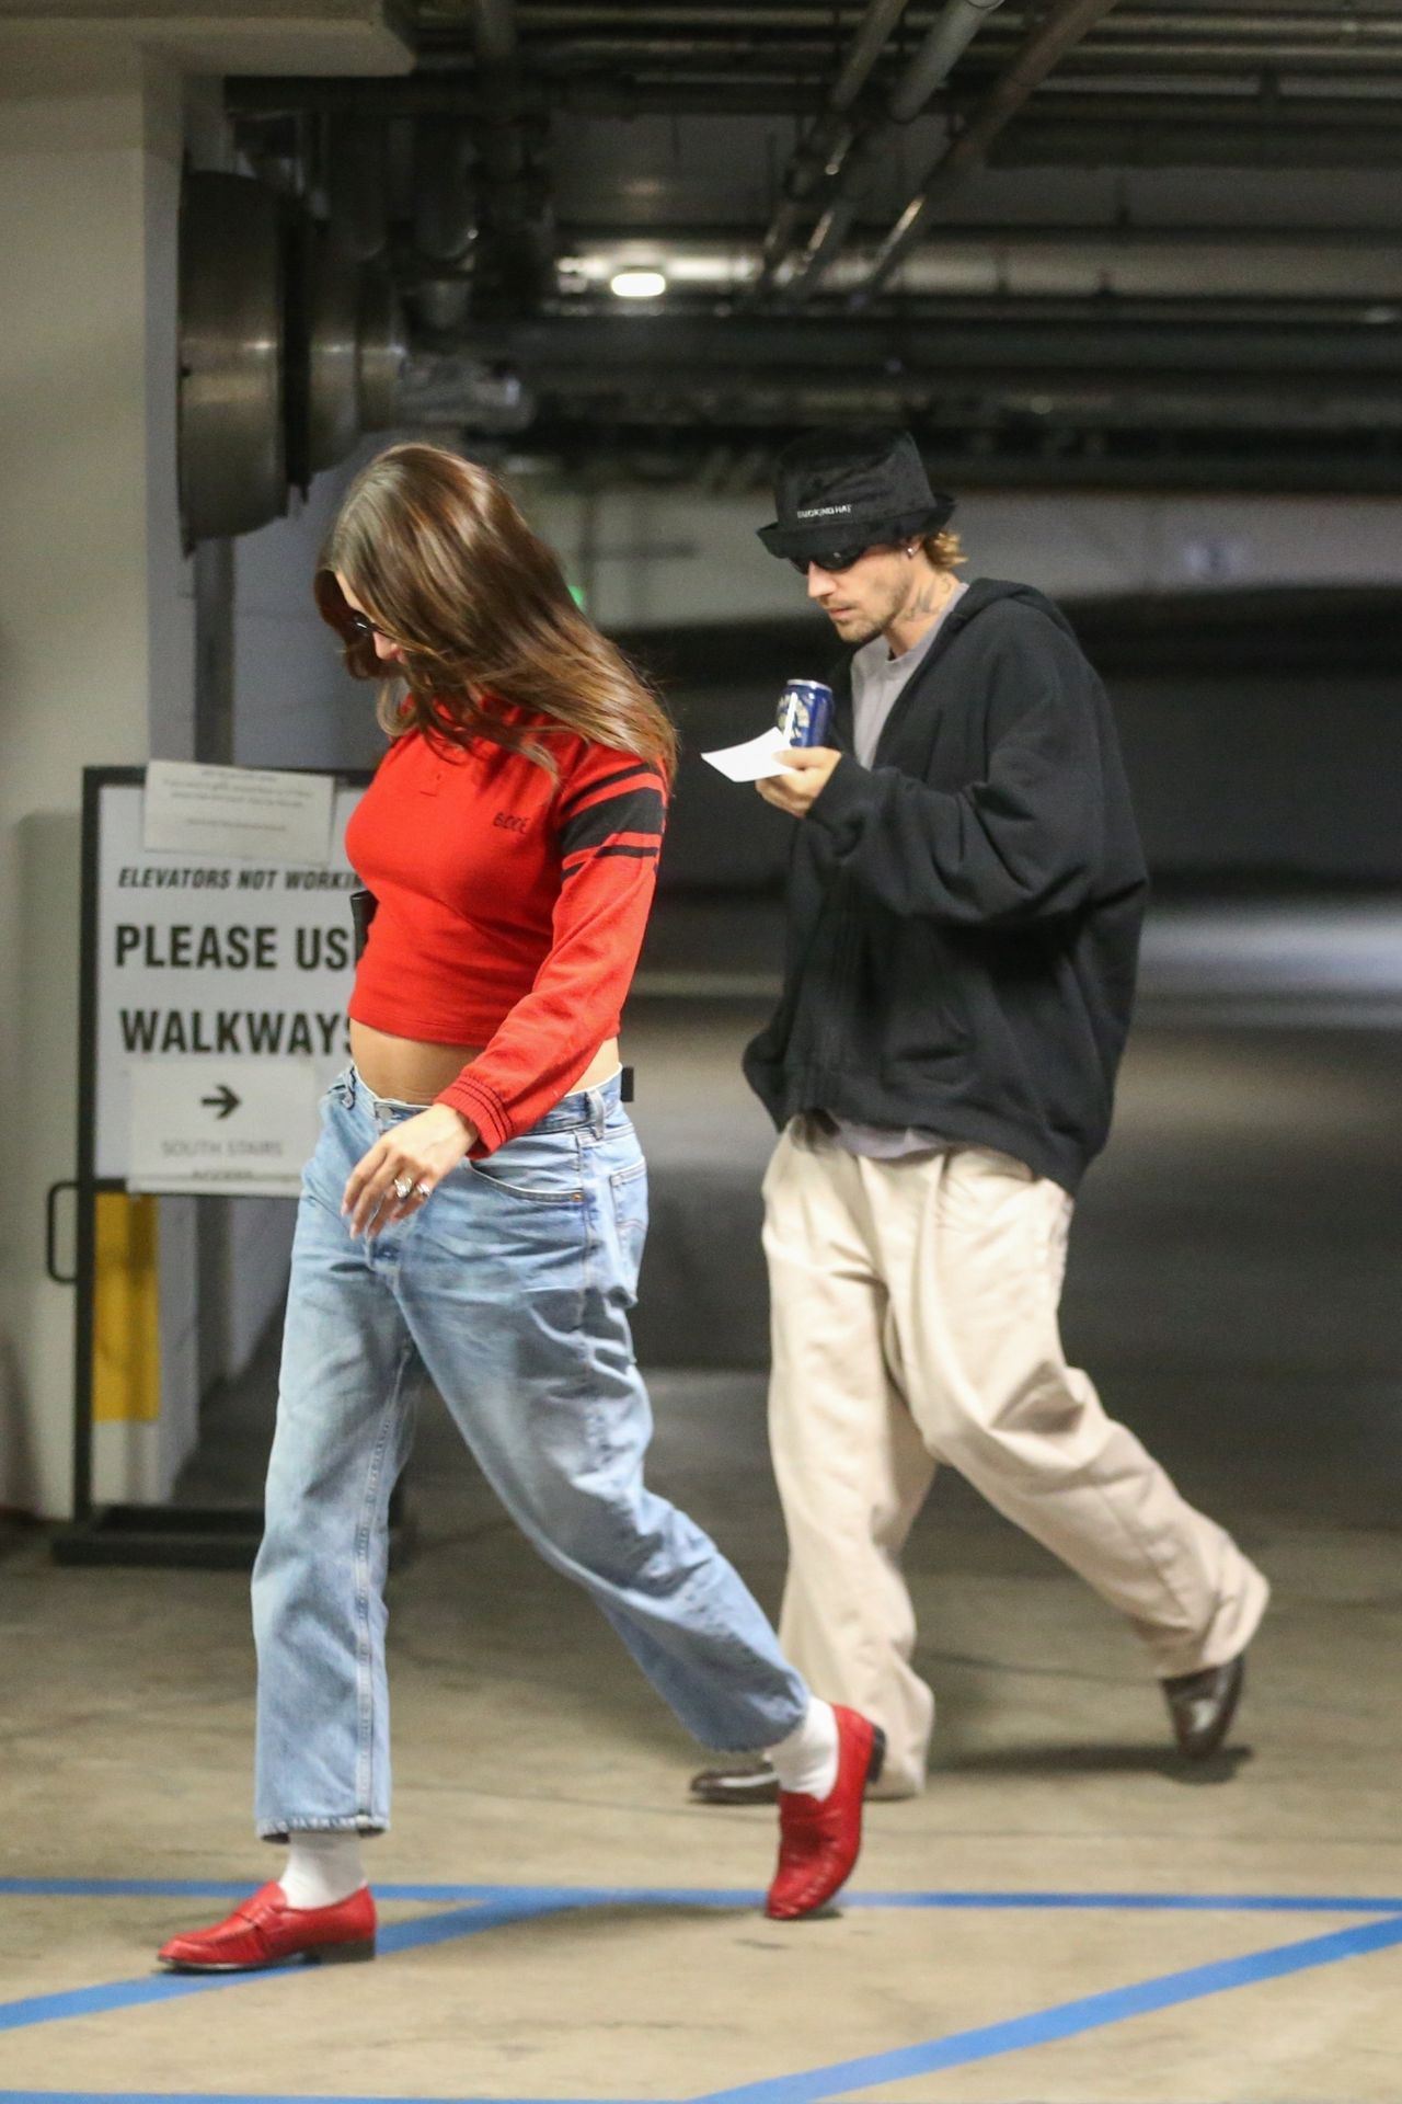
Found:
[(811, 1119), (765, 1174), (780, 1643), (885, 1727), (881, 1795), (925, 1782), (935, 1704), (900, 1555), (937, 1462), (1129, 1616), (1160, 1677), (1234, 1658), (1265, 1612), (1261, 1572), (1066, 1363), (1070, 1216), (992, 1149), (872, 1161)]

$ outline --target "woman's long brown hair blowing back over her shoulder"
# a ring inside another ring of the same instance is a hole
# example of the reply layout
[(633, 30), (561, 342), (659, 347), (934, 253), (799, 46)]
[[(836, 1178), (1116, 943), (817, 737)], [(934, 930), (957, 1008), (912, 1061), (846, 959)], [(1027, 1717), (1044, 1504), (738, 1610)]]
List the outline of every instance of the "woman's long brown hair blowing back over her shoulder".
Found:
[(404, 650), (401, 675), (380, 690), (389, 736), (490, 739), (553, 772), (549, 747), (492, 709), (504, 701), (673, 774), (677, 732), (662, 703), (584, 619), (559, 558), (486, 467), (446, 446), (389, 446), (341, 505), (315, 576), (317, 608), (345, 642), (347, 671), (385, 680), (336, 572)]

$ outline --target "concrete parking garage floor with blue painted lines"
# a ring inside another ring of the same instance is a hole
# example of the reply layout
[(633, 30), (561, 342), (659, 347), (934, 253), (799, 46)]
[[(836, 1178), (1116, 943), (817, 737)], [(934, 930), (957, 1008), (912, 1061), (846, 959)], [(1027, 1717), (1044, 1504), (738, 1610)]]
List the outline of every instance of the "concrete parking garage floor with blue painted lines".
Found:
[[(639, 1334), (654, 1479), (774, 1603), (746, 1023), (635, 1018), (660, 1197)], [(872, 1809), (837, 1917), (769, 1925), (771, 1814), (687, 1805), (683, 1734), (429, 1422), (391, 1589), (383, 1955), (189, 1992), (153, 1946), (275, 1868), (248, 1830), (244, 1580), (55, 1570), (13, 1536), (0, 2100), (1391, 2104), (1398, 1065), (1366, 1029), (1150, 1025), (1080, 1206), (1068, 1344), (1276, 1584), (1217, 1763), (1175, 1761), (1129, 1635), (942, 1477), (910, 1555), (929, 1791)], [(698, 1252), (704, 1323), (677, 1298)], [(729, 1368), (696, 1363), (702, 1332)], [(256, 1397), (223, 1416), (206, 1473), (263, 1441)]]

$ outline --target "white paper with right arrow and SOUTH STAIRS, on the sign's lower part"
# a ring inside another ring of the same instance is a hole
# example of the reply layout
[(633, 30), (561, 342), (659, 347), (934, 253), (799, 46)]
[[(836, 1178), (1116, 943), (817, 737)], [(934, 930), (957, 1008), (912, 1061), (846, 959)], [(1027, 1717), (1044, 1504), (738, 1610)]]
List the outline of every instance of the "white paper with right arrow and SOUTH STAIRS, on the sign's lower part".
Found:
[(128, 1191), (296, 1197), (317, 1136), (309, 1058), (151, 1058), (130, 1073)]

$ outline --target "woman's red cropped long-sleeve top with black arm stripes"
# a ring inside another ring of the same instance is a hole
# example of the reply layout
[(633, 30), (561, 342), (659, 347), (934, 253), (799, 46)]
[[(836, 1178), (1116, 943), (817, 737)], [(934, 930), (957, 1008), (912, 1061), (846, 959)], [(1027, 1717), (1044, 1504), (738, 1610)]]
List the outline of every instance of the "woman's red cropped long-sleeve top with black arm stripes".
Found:
[(656, 888), (666, 781), (519, 709), (557, 774), (488, 739), (397, 736), (347, 827), (374, 892), (349, 1014), (427, 1044), (483, 1046), (437, 1102), (473, 1155), (544, 1117), (618, 1033)]

